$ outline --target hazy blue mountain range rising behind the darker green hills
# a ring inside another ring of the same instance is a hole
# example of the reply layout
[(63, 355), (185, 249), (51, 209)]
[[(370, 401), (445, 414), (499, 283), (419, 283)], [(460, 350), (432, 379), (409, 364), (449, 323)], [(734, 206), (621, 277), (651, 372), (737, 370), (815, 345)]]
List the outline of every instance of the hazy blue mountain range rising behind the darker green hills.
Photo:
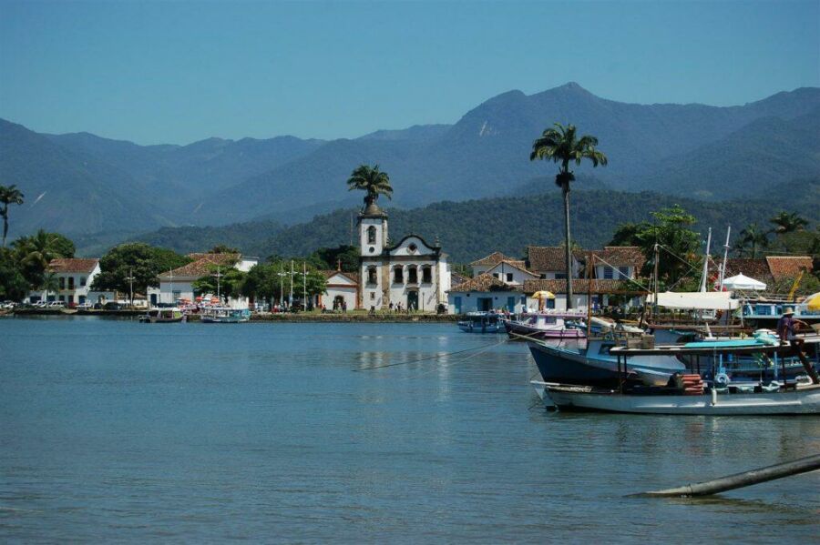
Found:
[(0, 120), (0, 184), (26, 194), (26, 204), (10, 212), (11, 236), (38, 227), (127, 238), (158, 227), (287, 225), (360, 203), (344, 181), (363, 163), (390, 174), (395, 207), (537, 192), (556, 167), (528, 154), (553, 122), (598, 136), (609, 166), (579, 167), (579, 179), (593, 180), (596, 190), (732, 199), (820, 174), (818, 88), (721, 107), (628, 104), (569, 83), (495, 96), (454, 125), (329, 141), (138, 146), (88, 133), (38, 134)]

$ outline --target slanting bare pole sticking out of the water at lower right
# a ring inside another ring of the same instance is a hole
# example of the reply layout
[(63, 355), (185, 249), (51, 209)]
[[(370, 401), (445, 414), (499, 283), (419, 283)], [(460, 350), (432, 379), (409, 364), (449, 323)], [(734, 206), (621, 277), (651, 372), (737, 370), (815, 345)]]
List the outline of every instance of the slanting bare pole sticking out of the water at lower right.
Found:
[(676, 489), (652, 490), (634, 496), (641, 497), (681, 497), (681, 496), (709, 496), (726, 490), (741, 489), (760, 482), (774, 479), (783, 479), (800, 473), (807, 473), (820, 469), (820, 454), (794, 459), (782, 464), (767, 466), (736, 473), (720, 479), (706, 480), (695, 484), (687, 484)]

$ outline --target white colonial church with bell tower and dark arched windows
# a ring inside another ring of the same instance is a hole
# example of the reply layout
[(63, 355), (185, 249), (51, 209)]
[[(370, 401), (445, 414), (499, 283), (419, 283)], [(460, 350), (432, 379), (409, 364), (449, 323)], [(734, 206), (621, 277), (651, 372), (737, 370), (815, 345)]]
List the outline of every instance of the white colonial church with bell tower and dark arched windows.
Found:
[(391, 244), (387, 214), (371, 203), (359, 214), (359, 247), (360, 308), (436, 312), (446, 305), (450, 265), (437, 242), (408, 235)]

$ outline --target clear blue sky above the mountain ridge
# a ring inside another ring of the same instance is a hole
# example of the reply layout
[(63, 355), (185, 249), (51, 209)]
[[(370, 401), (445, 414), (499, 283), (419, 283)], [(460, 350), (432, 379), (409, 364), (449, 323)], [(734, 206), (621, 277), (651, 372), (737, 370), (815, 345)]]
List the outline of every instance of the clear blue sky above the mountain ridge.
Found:
[(40, 132), (355, 137), (568, 81), (717, 106), (820, 86), (820, 0), (0, 0), (0, 117)]

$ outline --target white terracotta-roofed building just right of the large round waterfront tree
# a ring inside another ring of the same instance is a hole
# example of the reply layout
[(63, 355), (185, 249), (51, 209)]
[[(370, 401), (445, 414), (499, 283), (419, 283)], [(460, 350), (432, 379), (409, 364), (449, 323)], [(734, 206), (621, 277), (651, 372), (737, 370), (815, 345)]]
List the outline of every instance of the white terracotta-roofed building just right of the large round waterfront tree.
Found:
[[(160, 274), (159, 288), (149, 288), (148, 297), (151, 306), (172, 305), (176, 304), (179, 299), (194, 301), (196, 293), (193, 283), (198, 279), (215, 273), (224, 274), (231, 267), (248, 272), (259, 262), (256, 257), (241, 257), (239, 254), (189, 254), (188, 257), (191, 257), (193, 261), (188, 265)], [(228, 300), (228, 305), (232, 308), (248, 308), (249, 304), (248, 298)]]

